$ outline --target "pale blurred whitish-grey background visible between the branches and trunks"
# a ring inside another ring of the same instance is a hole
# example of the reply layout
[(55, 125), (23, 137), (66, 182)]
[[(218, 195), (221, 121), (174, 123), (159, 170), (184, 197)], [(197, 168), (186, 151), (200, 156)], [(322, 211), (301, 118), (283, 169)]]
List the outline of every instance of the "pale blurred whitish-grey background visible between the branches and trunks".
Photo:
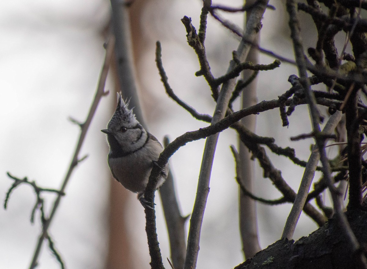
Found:
[[(271, 3), (277, 10), (265, 13), (261, 46), (292, 57), (289, 32), (282, 33), (288, 15), (280, 1)], [(240, 6), (241, 1), (227, 1), (227, 4)], [(199, 64), (186, 42), (185, 28), (180, 21), (187, 15), (198, 27), (200, 10), (199, 0), (153, 1), (141, 18), (143, 34), (150, 47), (137, 70), (143, 74), (140, 95), (149, 130), (160, 141), (164, 135), (173, 140), (186, 131), (207, 126), (207, 123), (193, 119), (166, 96), (155, 67), (156, 40), (162, 43), (163, 64), (176, 94), (200, 113), (212, 114), (214, 110), (214, 101), (204, 78), (194, 75)], [(241, 15), (228, 18), (241, 24)], [(19, 178), (27, 176), (46, 188), (60, 186), (79, 134), (78, 127), (67, 119), (69, 116), (81, 121), (86, 118), (104, 57), (101, 32), (108, 20), (109, 1), (106, 0), (1, 2), (1, 200), (12, 183), (6, 176), (7, 171)], [(315, 29), (306, 27), (305, 30), (312, 32)], [(311, 38), (306, 41), (312, 44)], [(232, 33), (212, 18), (208, 20), (206, 47), (214, 76), (225, 72), (237, 44)], [(261, 55), (260, 62), (267, 64), (273, 59)], [(288, 90), (287, 78), (293, 73), (297, 74), (295, 68), (286, 63), (276, 70), (262, 72), (258, 80), (258, 100), (276, 99)], [(110, 83), (106, 89), (112, 90)], [(50, 234), (67, 268), (97, 269), (104, 265), (110, 179), (105, 136), (99, 130), (105, 128), (111, 116), (110, 106), (115, 103), (115, 94), (102, 99), (80, 155), (88, 154), (89, 157), (73, 173), (50, 227)], [(280, 146), (294, 147), (297, 156), (307, 160), (312, 141), (289, 141), (289, 137), (311, 130), (306, 106), (297, 108), (289, 120), (289, 128), (281, 127), (279, 110), (262, 113), (258, 116), (257, 133), (275, 137)], [(185, 215), (190, 214), (193, 207), (204, 142), (188, 143), (171, 159)], [(226, 130), (219, 137), (215, 153), (198, 268), (233, 268), (243, 261), (237, 217), (238, 190), (230, 144), (237, 145), (236, 134), (233, 130)], [(281, 169), (288, 184), (297, 190), (302, 169), (285, 157), (272, 153), (269, 156), (275, 167)], [(271, 199), (280, 197), (269, 179), (262, 178), (262, 171), (256, 171), (255, 193)], [(54, 195), (45, 197), (49, 209)], [(38, 215), (34, 225), (29, 222), (34, 202), (32, 189), (20, 186), (12, 193), (8, 210), (0, 209), (0, 268), (28, 268), (41, 229)], [(141, 268), (149, 268), (143, 208), (134, 194), (131, 194), (129, 203), (132, 208), (130, 233), (136, 251), (142, 255), (137, 262)], [(166, 262), (168, 240), (158, 197), (156, 203), (160, 247), (166, 268), (169, 268)], [(273, 207), (258, 204), (262, 248), (280, 238), (289, 211), (289, 204)], [(315, 223), (302, 214), (295, 238), (306, 236), (315, 229)], [(40, 269), (59, 268), (46, 244), (39, 262), (37, 268)]]

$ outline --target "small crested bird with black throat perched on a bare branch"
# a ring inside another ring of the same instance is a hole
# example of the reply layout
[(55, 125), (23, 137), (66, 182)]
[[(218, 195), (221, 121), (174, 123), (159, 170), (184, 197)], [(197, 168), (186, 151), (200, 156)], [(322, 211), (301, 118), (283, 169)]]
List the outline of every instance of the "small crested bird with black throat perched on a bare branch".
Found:
[[(108, 166), (113, 178), (124, 188), (138, 193), (138, 199), (146, 208), (152, 208), (144, 199), (144, 192), (150, 171), (163, 147), (158, 139), (143, 128), (136, 119), (129, 102), (125, 102), (121, 92), (117, 93), (117, 107), (107, 129), (101, 130), (107, 136), (109, 145)], [(161, 168), (156, 185), (158, 189), (166, 180), (169, 172), (168, 163)]]

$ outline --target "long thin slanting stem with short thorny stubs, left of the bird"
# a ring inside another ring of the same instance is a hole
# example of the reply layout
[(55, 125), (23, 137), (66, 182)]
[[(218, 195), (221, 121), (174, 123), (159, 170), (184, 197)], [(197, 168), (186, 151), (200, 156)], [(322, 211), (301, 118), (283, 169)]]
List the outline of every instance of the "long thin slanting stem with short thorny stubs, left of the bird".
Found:
[(104, 88), (105, 88), (105, 84), (106, 84), (106, 78), (107, 78), (107, 74), (108, 74), (109, 65), (110, 65), (110, 62), (111, 62), (112, 54), (113, 54), (114, 45), (115, 45), (115, 38), (110, 37), (110, 39), (108, 41), (108, 44), (107, 44), (107, 48), (106, 48), (105, 61), (103, 63), (102, 69), (101, 69), (101, 74), (99, 76), (97, 90), (96, 90), (91, 108), (89, 110), (87, 119), (83, 123), (83, 127), (80, 130), (79, 139), (78, 139), (78, 142), (77, 142), (72, 160), (70, 162), (68, 171), (66, 172), (66, 176), (65, 176), (65, 178), (62, 182), (62, 185), (61, 185), (61, 188), (60, 188), (60, 193), (58, 194), (56, 200), (54, 201), (54, 205), (52, 206), (50, 217), (46, 220), (46, 222), (43, 225), (42, 232), (39, 236), (39, 239), (38, 239), (37, 244), (36, 244), (36, 248), (34, 250), (32, 262), (29, 266), (30, 269), (35, 268), (38, 264), (38, 257), (39, 257), (40, 251), (41, 251), (42, 243), (43, 243), (44, 239), (46, 239), (47, 236), (48, 236), (47, 231), (48, 231), (48, 228), (50, 227), (51, 221), (54, 218), (55, 212), (56, 212), (56, 210), (59, 206), (59, 203), (61, 201), (61, 197), (62, 197), (61, 194), (65, 192), (65, 188), (66, 188), (66, 185), (69, 182), (70, 176), (71, 176), (74, 168), (78, 164), (79, 152), (80, 152), (81, 146), (83, 145), (84, 138), (86, 137), (86, 134), (87, 134), (88, 128), (90, 126), (90, 123), (92, 121), (92, 118), (94, 116), (94, 113), (97, 110), (98, 103), (99, 103), (99, 101), (101, 100), (101, 98), (103, 96), (108, 94), (108, 92), (105, 92)]

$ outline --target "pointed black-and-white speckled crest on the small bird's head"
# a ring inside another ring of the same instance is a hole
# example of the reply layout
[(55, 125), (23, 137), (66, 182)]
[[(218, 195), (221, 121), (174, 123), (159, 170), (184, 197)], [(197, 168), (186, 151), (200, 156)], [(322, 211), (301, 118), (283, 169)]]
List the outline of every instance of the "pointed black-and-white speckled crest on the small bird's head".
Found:
[(117, 107), (115, 113), (113, 113), (111, 120), (107, 125), (108, 130), (113, 130), (124, 126), (131, 128), (136, 126), (138, 121), (135, 118), (135, 114), (132, 113), (132, 109), (128, 108), (129, 101), (125, 102), (122, 98), (121, 92), (117, 93)]

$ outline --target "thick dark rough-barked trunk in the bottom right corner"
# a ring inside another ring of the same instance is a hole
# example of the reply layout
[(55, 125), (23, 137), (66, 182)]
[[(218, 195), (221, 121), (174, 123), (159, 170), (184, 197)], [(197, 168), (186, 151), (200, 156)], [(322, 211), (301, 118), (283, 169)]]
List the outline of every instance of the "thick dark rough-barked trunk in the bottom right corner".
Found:
[[(361, 246), (367, 243), (367, 212), (346, 212), (350, 227)], [(359, 249), (357, 252), (366, 252)], [(350, 269), (360, 268), (359, 253), (352, 253), (348, 240), (340, 230), (338, 222), (330, 219), (328, 223), (298, 241), (278, 240), (254, 258), (236, 266), (235, 269), (281, 268), (281, 269)]]

